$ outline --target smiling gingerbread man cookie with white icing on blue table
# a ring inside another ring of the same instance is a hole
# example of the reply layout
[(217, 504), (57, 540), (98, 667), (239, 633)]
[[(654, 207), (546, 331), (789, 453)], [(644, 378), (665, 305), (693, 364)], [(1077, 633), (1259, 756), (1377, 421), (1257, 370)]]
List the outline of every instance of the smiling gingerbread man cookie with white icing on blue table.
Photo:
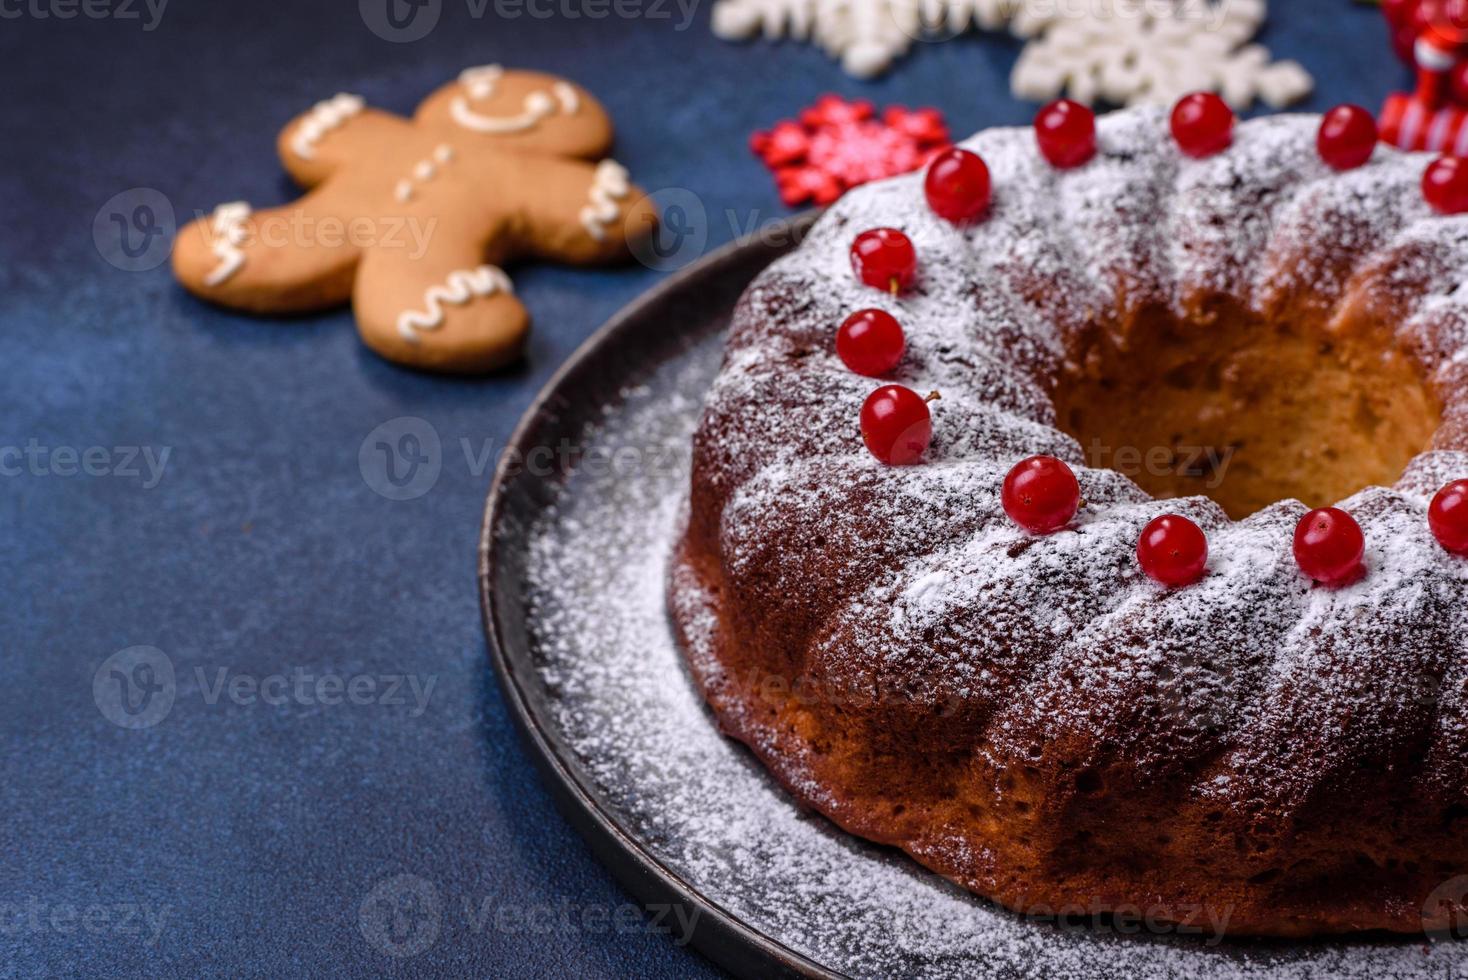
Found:
[(304, 312), (351, 301), (363, 340), (415, 368), (514, 361), (530, 317), (501, 264), (625, 257), (656, 216), (614, 160), (586, 89), (474, 67), (411, 120), (336, 95), (294, 119), (277, 150), (305, 197), (222, 204), (179, 232), (173, 271), (211, 302)]

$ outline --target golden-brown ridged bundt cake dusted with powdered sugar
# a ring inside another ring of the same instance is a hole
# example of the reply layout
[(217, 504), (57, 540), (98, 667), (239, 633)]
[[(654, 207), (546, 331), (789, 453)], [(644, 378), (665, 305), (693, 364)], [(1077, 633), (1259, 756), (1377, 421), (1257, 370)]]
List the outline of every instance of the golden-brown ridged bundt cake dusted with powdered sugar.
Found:
[[(1038, 915), (1141, 911), (1230, 935), (1421, 933), (1468, 893), (1468, 557), (1428, 502), (1468, 477), (1468, 217), (1430, 158), (1330, 169), (1320, 117), (1192, 158), (1166, 111), (962, 144), (985, 214), (923, 175), (859, 188), (749, 288), (693, 446), (671, 610), (713, 713), (802, 802)], [(853, 241), (903, 232), (901, 290)], [(893, 314), (884, 380), (837, 329)], [(912, 465), (859, 417), (941, 399)], [(1006, 516), (1016, 462), (1070, 465), (1054, 534)], [(1337, 503), (1365, 571), (1292, 553)], [(1138, 563), (1163, 513), (1207, 574)], [(1462, 921), (1462, 920), (1458, 920)]]

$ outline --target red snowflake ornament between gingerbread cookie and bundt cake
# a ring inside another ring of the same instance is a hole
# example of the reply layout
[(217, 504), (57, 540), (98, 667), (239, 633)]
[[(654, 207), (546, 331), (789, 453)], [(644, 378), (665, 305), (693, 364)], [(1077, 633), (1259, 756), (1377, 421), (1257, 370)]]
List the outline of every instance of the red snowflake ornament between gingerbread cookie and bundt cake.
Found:
[(799, 122), (775, 123), (749, 141), (790, 207), (831, 204), (859, 183), (918, 170), (948, 144), (937, 109), (891, 106), (878, 117), (865, 98), (840, 95), (822, 95)]

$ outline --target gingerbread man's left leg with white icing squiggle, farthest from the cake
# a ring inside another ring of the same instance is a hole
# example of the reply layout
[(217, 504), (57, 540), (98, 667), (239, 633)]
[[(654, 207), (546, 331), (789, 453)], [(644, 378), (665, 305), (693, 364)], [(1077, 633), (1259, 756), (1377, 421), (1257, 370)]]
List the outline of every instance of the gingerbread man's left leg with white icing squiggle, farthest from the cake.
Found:
[(195, 296), (252, 312), (305, 312), (351, 298), (361, 246), (323, 192), (254, 211), (220, 204), (179, 230), (173, 274)]

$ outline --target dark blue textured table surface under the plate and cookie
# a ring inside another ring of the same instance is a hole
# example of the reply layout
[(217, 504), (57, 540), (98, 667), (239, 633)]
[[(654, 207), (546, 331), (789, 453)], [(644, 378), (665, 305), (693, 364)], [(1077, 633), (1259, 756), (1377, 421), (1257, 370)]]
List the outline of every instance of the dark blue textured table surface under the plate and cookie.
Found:
[[(715, 40), (709, 0), (686, 29), (672, 3), (595, 19), (542, 0), (559, 13), (508, 19), (442, 0), (415, 43), (376, 37), (352, 0), (173, 0), (156, 23), (141, 0), (107, 18), (92, 3), (0, 4), (0, 976), (711, 974), (618, 911), (630, 899), (556, 814), (490, 676), (474, 585), (495, 452), (662, 273), (518, 267), (526, 364), (443, 380), (368, 354), (346, 311), (257, 320), (195, 302), (166, 266), (119, 268), (153, 255), (135, 205), (161, 197), (182, 222), (279, 202), (273, 141), (295, 111), (338, 91), (410, 111), (504, 62), (597, 92), (617, 157), (649, 189), (691, 191), (713, 246), (784, 214), (752, 129), (824, 91), (934, 104), (960, 134), (1025, 122), (1017, 44), (920, 44), (857, 82), (807, 45)], [(1309, 107), (1376, 107), (1406, 81), (1374, 9), (1273, 13), (1262, 40), (1314, 72)], [(439, 436), (440, 472), (392, 500), (358, 452), (402, 417)], [(156, 653), (109, 662), (139, 646)], [(159, 687), (173, 669), (161, 716), (119, 714), (109, 685), (144, 684), (139, 666)], [(321, 676), (357, 695), (320, 703)], [(421, 710), (392, 676), (432, 682)], [(383, 952), (415, 929), (373, 911), (385, 882), (437, 899), (417, 955)]]

